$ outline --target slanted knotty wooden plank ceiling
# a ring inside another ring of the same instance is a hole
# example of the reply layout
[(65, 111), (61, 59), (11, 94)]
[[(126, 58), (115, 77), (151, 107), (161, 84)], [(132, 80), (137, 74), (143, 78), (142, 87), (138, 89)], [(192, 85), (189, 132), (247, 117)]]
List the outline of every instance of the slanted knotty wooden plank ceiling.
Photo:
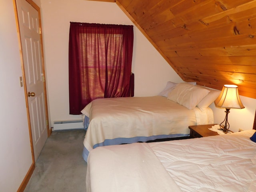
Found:
[(256, 98), (256, 0), (116, 2), (184, 81)]

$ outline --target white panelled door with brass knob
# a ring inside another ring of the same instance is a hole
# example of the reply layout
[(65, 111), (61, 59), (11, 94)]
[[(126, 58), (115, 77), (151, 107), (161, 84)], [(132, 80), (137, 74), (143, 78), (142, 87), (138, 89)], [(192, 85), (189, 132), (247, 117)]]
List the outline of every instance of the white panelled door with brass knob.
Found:
[(37, 160), (47, 139), (46, 109), (44, 103), (44, 74), (42, 71), (42, 50), (38, 11), (26, 0), (16, 0), (22, 56), (28, 91), (28, 108), (34, 147)]

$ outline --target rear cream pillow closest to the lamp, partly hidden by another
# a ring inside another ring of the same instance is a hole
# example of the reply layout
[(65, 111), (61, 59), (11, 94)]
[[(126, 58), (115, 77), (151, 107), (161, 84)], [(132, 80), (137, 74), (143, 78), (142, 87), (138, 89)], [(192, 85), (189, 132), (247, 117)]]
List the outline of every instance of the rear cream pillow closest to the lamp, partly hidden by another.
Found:
[(198, 108), (201, 111), (205, 110), (208, 106), (210, 106), (210, 104), (212, 104), (216, 100), (216, 98), (220, 95), (221, 92), (220, 90), (213, 90), (208, 88), (205, 89), (209, 90), (210, 92), (197, 104)]

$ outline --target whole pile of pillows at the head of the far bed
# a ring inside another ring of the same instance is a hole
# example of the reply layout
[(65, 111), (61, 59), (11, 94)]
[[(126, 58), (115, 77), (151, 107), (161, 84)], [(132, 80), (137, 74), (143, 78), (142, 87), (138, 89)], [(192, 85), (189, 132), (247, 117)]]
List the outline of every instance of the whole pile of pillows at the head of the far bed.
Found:
[(167, 97), (188, 109), (196, 106), (204, 111), (220, 94), (220, 90), (212, 90), (195, 85), (196, 82), (174, 83), (167, 82), (166, 87), (159, 95)]

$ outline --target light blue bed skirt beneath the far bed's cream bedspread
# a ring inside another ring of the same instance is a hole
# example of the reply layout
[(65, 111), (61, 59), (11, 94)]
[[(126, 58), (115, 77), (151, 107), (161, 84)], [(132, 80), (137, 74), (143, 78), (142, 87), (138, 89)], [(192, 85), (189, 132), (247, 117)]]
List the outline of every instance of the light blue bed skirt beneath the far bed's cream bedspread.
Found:
[[(107, 145), (118, 145), (118, 144), (130, 144), (130, 143), (136, 143), (136, 142), (147, 142), (151, 140), (156, 140), (156, 139), (165, 139), (165, 138), (175, 138), (175, 137), (186, 137), (189, 136), (189, 134), (172, 134), (172, 135), (154, 135), (154, 136), (149, 136), (149, 137), (133, 137), (133, 138), (114, 138), (114, 139), (106, 139), (104, 142), (95, 144), (93, 148), (100, 147), (100, 146), (107, 146)], [(84, 147), (83, 150), (83, 158), (87, 162), (89, 155), (89, 151)]]

